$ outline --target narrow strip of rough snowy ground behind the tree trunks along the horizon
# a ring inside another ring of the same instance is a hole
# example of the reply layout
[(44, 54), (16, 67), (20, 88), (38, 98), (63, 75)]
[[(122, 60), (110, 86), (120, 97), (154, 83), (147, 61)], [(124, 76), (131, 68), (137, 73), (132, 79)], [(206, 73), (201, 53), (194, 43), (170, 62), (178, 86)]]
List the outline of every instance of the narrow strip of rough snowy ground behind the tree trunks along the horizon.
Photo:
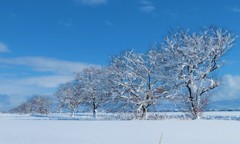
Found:
[[(51, 113), (48, 115), (40, 114), (1, 114), (0, 119), (12, 120), (96, 120), (93, 119), (92, 113), (77, 113), (71, 117), (71, 113)], [(135, 115), (133, 113), (98, 113), (97, 120), (132, 120)], [(164, 119), (189, 119), (182, 112), (149, 112), (148, 120), (164, 120)], [(237, 120), (240, 121), (240, 111), (231, 112), (205, 112), (202, 119), (218, 119), (218, 120)]]

